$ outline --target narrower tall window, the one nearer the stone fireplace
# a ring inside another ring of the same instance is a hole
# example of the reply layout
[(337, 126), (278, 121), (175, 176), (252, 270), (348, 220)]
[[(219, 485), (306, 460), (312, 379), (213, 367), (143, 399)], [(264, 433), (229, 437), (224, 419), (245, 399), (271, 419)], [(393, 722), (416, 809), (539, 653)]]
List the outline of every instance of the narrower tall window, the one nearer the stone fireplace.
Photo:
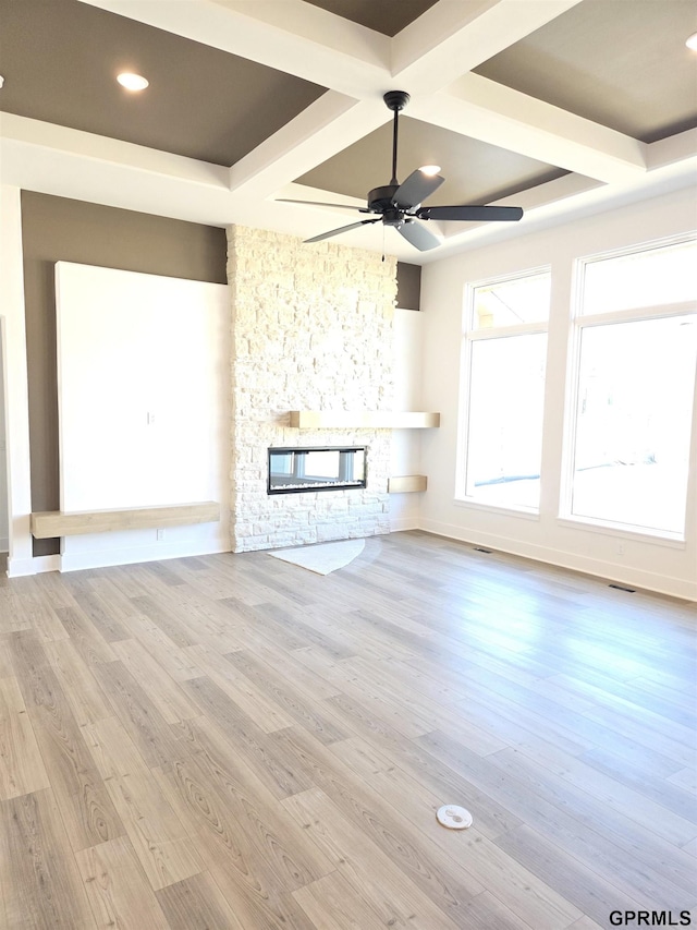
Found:
[(457, 496), (539, 508), (549, 271), (474, 286), (463, 345)]

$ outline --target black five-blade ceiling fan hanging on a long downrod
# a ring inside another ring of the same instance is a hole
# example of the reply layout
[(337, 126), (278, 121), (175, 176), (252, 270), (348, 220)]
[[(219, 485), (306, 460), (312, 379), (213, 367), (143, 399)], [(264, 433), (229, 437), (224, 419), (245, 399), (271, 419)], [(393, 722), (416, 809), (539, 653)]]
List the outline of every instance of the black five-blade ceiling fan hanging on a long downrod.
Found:
[(322, 204), (315, 201), (291, 201), (279, 198), (285, 204), (307, 204), (309, 206), (337, 207), (339, 209), (357, 209), (358, 213), (377, 214), (372, 219), (360, 219), (348, 226), (341, 226), (320, 235), (306, 239), (305, 242), (321, 242), (350, 229), (359, 226), (369, 226), (374, 222), (382, 222), (383, 226), (392, 226), (419, 252), (427, 252), (440, 245), (438, 237), (421, 226), (420, 219), (450, 219), (465, 222), (480, 222), (487, 220), (515, 221), (523, 216), (521, 207), (496, 207), (496, 206), (441, 206), (423, 207), (421, 203), (435, 193), (445, 180), (438, 173), (439, 168), (426, 171), (417, 168), (412, 171), (403, 184), (396, 179), (396, 149), (398, 149), (398, 120), (400, 110), (409, 101), (409, 95), (405, 90), (388, 90), (383, 98), (388, 109), (394, 113), (392, 128), (392, 180), (382, 188), (374, 188), (368, 193), (368, 205), (366, 207), (351, 207), (346, 204)]

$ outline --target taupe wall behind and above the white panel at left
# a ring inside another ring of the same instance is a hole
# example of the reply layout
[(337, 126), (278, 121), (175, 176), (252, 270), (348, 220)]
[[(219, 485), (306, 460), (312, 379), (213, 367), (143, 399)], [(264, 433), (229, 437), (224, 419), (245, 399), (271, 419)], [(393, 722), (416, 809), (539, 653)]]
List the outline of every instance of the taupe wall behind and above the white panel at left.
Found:
[[(22, 242), (32, 509), (57, 510), (60, 503), (54, 263), (78, 262), (224, 285), (225, 231), (24, 191)], [(35, 555), (58, 551), (57, 540), (34, 543)]]

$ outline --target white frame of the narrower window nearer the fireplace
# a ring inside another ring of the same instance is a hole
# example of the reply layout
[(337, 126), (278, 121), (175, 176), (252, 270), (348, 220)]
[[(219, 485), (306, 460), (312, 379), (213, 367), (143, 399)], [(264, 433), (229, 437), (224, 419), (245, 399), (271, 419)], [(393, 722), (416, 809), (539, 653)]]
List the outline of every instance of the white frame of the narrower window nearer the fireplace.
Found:
[[(491, 326), (481, 329), (474, 327), (475, 315), (475, 294), (478, 288), (496, 287), (510, 281), (517, 281), (524, 278), (533, 278), (547, 275), (550, 280), (550, 306), (546, 319), (538, 319), (531, 323), (518, 323), (513, 326)], [(539, 520), (540, 505), (537, 507), (526, 507), (515, 504), (493, 504), (479, 500), (476, 497), (468, 495), (467, 492), (467, 449), (469, 446), (469, 427), (470, 427), (470, 411), (472, 411), (472, 355), (473, 348), (476, 342), (490, 339), (506, 339), (517, 336), (547, 336), (547, 354), (545, 361), (545, 377), (547, 379), (547, 367), (549, 362), (549, 319), (551, 315), (551, 288), (552, 288), (552, 267), (550, 264), (538, 265), (533, 268), (526, 268), (519, 271), (513, 271), (505, 275), (496, 275), (482, 278), (477, 281), (468, 281), (465, 285), (463, 294), (463, 314), (462, 314), (462, 333), (461, 333), (461, 349), (460, 349), (460, 383), (458, 383), (458, 423), (457, 423), (457, 451), (455, 458), (455, 494), (454, 503), (458, 506), (467, 506), (477, 510), (486, 510), (487, 512), (506, 514), (510, 516), (521, 517), (523, 519)], [(542, 422), (545, 422), (545, 401), (542, 402)], [(543, 439), (542, 439), (543, 445)], [(542, 485), (542, 461), (540, 449), (540, 499)]]

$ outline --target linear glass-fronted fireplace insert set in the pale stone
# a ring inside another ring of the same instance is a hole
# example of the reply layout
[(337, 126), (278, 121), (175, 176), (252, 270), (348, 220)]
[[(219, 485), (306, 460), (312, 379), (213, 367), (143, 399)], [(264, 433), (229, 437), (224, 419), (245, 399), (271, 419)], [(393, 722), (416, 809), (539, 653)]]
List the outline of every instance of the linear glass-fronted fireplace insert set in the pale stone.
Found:
[(365, 446), (269, 449), (269, 494), (366, 486)]

